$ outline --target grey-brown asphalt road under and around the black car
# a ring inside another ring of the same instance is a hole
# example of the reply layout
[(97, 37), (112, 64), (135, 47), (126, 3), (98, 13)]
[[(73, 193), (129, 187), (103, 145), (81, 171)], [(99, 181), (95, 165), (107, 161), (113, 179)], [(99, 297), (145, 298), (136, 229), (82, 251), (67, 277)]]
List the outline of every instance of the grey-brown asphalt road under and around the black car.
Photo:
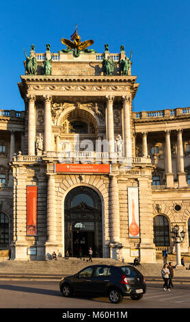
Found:
[(111, 304), (107, 297), (63, 297), (58, 282), (0, 281), (0, 308), (59, 309), (144, 309), (189, 308), (190, 284), (176, 284), (171, 292), (159, 283), (147, 284), (147, 293), (139, 301), (125, 297), (121, 304)]

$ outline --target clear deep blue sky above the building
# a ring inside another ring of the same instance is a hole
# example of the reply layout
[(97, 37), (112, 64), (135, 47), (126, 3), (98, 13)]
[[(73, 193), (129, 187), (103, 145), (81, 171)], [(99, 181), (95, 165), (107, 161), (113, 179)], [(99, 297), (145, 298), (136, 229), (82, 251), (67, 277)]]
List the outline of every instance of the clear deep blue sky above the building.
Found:
[(17, 82), (25, 74), (23, 49), (63, 49), (75, 23), (81, 40), (93, 39), (98, 53), (133, 50), (132, 75), (139, 89), (134, 110), (190, 106), (190, 1), (23, 1), (1, 2), (1, 105), (23, 110)]

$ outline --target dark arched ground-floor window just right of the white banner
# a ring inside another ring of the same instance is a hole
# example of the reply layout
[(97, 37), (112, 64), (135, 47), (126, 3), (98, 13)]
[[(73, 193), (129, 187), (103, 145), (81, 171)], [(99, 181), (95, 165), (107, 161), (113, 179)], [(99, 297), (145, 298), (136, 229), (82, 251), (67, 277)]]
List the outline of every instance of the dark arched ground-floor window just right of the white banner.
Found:
[(155, 216), (153, 219), (154, 244), (160, 247), (169, 246), (169, 224), (165, 216)]

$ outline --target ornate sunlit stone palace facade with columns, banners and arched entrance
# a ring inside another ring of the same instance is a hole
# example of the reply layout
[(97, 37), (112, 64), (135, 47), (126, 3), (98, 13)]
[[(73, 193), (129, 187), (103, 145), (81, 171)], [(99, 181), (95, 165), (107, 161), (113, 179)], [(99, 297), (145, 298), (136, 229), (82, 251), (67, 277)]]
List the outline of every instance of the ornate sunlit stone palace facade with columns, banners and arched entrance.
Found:
[[(139, 84), (124, 48), (35, 53), (25, 110), (0, 114), (0, 247), (15, 260), (64, 256), (155, 262), (176, 224), (189, 253), (190, 110), (133, 112)], [(49, 60), (51, 72), (44, 73)], [(27, 62), (25, 62), (26, 66)], [(26, 66), (27, 70), (27, 66)]]

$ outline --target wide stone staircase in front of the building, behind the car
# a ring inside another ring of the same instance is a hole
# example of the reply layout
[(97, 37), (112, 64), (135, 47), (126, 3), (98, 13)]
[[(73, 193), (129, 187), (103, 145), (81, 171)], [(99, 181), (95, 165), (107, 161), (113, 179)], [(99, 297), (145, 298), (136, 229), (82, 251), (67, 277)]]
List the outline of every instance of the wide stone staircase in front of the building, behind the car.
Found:
[[(91, 264), (87, 258), (58, 258), (57, 260), (48, 261), (18, 261), (7, 260), (0, 262), (0, 277), (5, 275), (23, 275), (23, 276), (44, 276), (44, 277), (62, 277), (62, 275), (72, 275), (77, 273), (84, 267)], [(121, 263), (118, 260), (111, 258), (93, 258), (92, 264), (131, 264)], [(150, 263), (141, 264), (137, 267), (144, 277), (159, 277), (161, 278), (161, 269), (163, 263)], [(185, 267), (178, 267), (175, 269), (175, 277), (186, 278), (190, 282), (190, 270), (186, 270)]]

